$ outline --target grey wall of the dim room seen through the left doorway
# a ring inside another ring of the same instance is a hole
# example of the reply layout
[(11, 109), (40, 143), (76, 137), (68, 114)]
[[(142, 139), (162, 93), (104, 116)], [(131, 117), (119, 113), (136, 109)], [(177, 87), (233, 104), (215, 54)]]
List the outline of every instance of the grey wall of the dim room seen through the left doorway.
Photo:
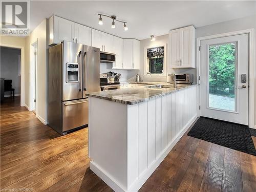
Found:
[[(15, 95), (20, 94), (20, 76), (18, 76), (18, 56), (20, 49), (1, 47), (1, 78), (11, 79)], [(5, 92), (5, 96), (10, 92)]]

